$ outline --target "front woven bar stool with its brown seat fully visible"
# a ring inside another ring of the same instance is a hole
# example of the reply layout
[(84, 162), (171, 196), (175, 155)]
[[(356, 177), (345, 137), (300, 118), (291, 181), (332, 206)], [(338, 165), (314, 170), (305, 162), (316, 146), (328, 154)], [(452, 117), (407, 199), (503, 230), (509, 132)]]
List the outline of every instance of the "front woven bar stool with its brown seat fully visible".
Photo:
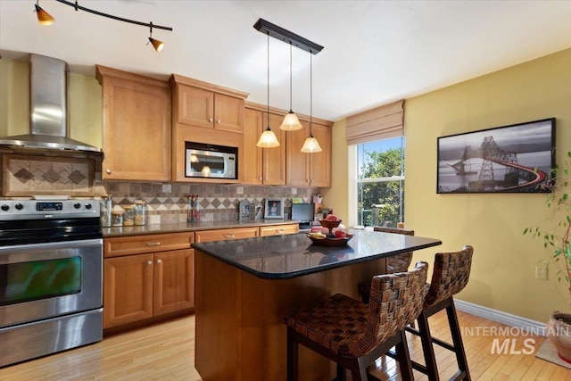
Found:
[(337, 380), (368, 379), (367, 369), (396, 345), (403, 380), (412, 379), (404, 327), (422, 310), (426, 262), (408, 272), (373, 277), (370, 302), (335, 294), (284, 319), (287, 325), (287, 379), (298, 379), (298, 344), (337, 363)]

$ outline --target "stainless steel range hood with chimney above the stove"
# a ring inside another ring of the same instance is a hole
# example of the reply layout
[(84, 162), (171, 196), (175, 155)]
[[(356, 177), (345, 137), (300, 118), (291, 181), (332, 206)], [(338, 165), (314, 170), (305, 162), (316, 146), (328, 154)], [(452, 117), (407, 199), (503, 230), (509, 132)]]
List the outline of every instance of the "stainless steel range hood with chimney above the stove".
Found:
[(0, 145), (100, 153), (101, 148), (69, 137), (68, 78), (67, 62), (30, 54), (29, 134), (0, 137)]

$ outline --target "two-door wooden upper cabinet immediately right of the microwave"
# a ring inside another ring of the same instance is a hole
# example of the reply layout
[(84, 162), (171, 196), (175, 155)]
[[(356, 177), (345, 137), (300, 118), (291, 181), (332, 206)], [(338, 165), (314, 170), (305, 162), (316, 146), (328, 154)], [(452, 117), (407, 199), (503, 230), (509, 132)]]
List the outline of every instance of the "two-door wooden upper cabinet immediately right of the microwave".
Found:
[(240, 175), (244, 184), (285, 185), (285, 131), (279, 129), (282, 115), (269, 114), (269, 127), (280, 145), (275, 148), (256, 146), (268, 126), (268, 112), (246, 108), (244, 117), (244, 166)]

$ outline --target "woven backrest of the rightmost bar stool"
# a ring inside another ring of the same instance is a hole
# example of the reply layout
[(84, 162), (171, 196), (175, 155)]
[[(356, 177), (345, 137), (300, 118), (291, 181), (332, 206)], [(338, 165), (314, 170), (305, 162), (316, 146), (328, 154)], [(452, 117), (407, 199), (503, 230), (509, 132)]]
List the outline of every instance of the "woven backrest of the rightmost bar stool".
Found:
[(436, 253), (425, 307), (430, 307), (458, 294), (468, 285), (473, 253), (474, 248), (468, 245), (459, 252)]

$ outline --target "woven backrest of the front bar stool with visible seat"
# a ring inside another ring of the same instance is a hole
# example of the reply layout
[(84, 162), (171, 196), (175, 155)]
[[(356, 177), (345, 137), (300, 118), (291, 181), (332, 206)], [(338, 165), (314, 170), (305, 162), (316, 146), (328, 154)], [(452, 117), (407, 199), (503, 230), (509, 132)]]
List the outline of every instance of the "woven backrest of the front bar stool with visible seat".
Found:
[(383, 343), (418, 318), (425, 297), (428, 263), (419, 261), (408, 272), (373, 277), (368, 302), (368, 323), (358, 341), (359, 350)]

